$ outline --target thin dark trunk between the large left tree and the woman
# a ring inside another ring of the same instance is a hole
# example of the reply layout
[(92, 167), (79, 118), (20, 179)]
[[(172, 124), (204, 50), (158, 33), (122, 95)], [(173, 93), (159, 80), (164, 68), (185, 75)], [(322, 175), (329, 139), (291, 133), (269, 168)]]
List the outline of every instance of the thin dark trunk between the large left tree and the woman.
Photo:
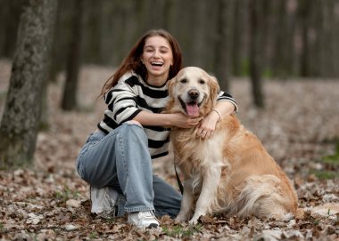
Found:
[(74, 2), (73, 31), (67, 62), (67, 74), (62, 95), (62, 109), (73, 110), (78, 107), (77, 91), (80, 68), (83, 0)]

